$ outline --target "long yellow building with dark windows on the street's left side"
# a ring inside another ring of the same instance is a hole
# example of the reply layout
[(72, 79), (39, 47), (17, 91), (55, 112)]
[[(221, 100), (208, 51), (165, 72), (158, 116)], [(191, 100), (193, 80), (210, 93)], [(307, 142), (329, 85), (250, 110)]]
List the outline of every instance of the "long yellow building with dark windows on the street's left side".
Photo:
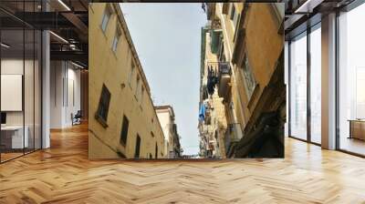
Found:
[(89, 158), (165, 158), (162, 127), (119, 4), (89, 12)]

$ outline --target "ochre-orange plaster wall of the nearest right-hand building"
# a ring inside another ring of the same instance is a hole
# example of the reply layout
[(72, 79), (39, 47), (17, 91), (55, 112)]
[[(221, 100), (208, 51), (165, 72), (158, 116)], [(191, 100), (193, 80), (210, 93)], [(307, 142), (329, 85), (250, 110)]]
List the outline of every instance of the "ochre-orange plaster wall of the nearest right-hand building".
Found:
[[(276, 61), (284, 47), (284, 36), (278, 34), (276, 16), (269, 4), (250, 4), (245, 18), (245, 47), (250, 67), (258, 84), (256, 93), (249, 98), (245, 93), (243, 73), (237, 71), (237, 84), (241, 100), (245, 103), (245, 120), (251, 117), (263, 89), (268, 84), (276, 68)], [(243, 56), (242, 56), (243, 57)], [(238, 68), (237, 68), (238, 69)]]

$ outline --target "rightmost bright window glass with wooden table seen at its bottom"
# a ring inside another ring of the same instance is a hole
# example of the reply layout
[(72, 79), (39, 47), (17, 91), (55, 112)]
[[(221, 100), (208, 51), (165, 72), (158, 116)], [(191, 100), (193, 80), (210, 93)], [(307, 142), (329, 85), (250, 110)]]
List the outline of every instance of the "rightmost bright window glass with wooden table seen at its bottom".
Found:
[(365, 155), (365, 4), (339, 15), (339, 148)]

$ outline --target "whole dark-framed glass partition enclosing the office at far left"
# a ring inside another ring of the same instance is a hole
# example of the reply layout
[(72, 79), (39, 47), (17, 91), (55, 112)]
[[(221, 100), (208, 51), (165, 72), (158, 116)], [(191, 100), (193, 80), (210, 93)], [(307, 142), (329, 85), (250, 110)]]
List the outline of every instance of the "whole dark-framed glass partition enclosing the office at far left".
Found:
[[(33, 12), (39, 4), (6, 1), (0, 6)], [(0, 11), (0, 18), (0, 162), (5, 162), (41, 148), (42, 36), (11, 13)]]

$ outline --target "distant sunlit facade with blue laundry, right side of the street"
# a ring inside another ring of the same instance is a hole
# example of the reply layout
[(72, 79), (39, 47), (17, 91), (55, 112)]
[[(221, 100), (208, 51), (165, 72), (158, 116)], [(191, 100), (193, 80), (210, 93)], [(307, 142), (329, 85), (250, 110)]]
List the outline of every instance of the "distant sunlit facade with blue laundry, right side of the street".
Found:
[(224, 132), (226, 118), (223, 97), (213, 83), (213, 76), (218, 70), (219, 61), (212, 51), (212, 26), (202, 28), (202, 58), (199, 102), (199, 137), (200, 157), (225, 158)]

